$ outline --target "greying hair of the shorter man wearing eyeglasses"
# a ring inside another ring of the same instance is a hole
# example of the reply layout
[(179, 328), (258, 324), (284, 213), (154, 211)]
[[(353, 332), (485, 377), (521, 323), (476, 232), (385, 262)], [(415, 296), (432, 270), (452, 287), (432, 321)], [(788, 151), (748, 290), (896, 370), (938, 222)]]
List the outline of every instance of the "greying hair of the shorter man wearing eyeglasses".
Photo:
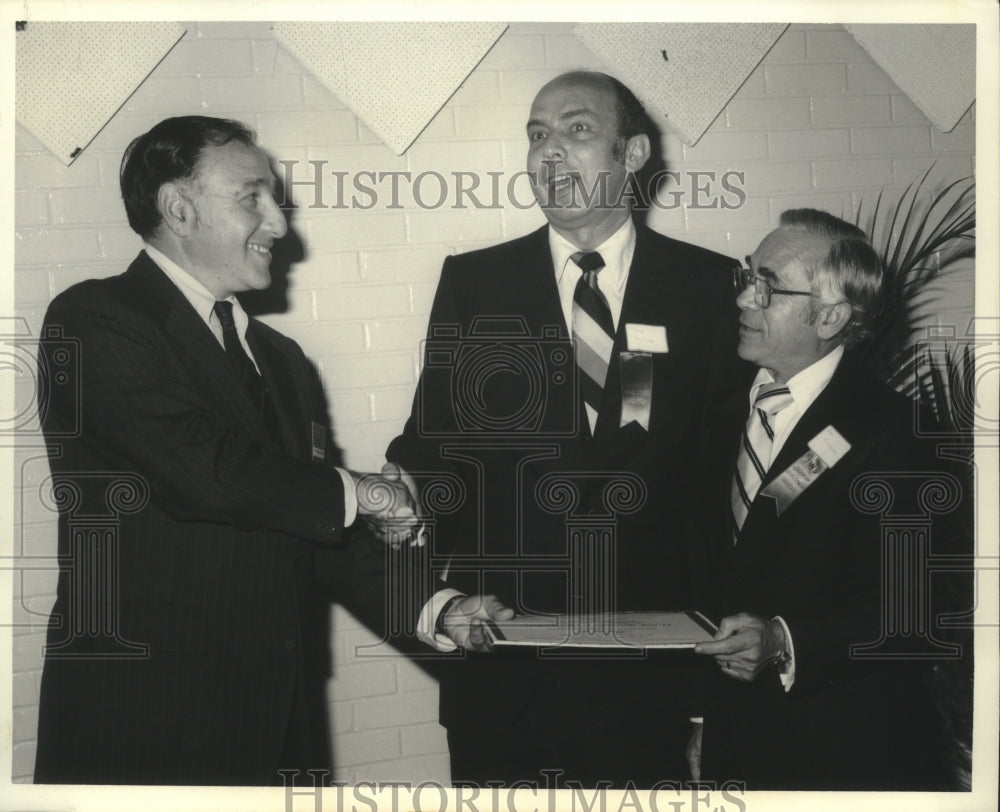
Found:
[(830, 248), (816, 267), (811, 281), (825, 279), (851, 306), (851, 318), (841, 338), (853, 346), (866, 338), (882, 297), (885, 273), (868, 235), (860, 228), (818, 209), (788, 209), (778, 221), (781, 228), (805, 231), (830, 241)]

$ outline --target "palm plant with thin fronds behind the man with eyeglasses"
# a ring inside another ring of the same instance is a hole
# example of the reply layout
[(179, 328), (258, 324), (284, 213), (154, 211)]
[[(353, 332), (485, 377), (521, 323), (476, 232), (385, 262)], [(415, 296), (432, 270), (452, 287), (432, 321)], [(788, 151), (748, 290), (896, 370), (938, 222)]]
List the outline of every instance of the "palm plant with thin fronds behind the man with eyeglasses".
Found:
[[(921, 401), (933, 414), (944, 453), (959, 461), (964, 493), (973, 493), (973, 429), (976, 407), (974, 350), (968, 343), (920, 340), (935, 294), (949, 274), (975, 256), (975, 182), (962, 178), (936, 192), (928, 189), (933, 166), (910, 183), (894, 204), (880, 193), (870, 211), (859, 208), (856, 224), (872, 239), (886, 273), (885, 298), (872, 334), (860, 353), (867, 366), (897, 390)], [(941, 344), (944, 351), (940, 351)], [(969, 507), (969, 506), (967, 506)], [(967, 526), (959, 527), (961, 552), (973, 550), (971, 510)], [(967, 551), (967, 552), (966, 552)], [(930, 672), (931, 687), (945, 735), (941, 757), (952, 765), (958, 788), (971, 787), (972, 687), (971, 562), (951, 583), (957, 605), (965, 606), (954, 638), (964, 656), (943, 661)]]

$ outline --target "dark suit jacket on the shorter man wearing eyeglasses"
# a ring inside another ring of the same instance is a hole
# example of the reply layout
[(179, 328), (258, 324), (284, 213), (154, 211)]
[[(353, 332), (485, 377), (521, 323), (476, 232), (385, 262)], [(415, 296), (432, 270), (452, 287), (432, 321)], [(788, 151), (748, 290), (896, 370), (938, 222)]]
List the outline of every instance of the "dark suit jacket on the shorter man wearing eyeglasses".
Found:
[[(897, 548), (887, 546), (882, 536), (883, 526), (891, 529), (893, 522), (919, 527), (941, 518), (935, 514), (954, 512), (950, 497), (935, 507), (932, 492), (920, 493), (927, 477), (947, 479), (949, 473), (933, 447), (914, 436), (913, 404), (845, 356), (793, 429), (761, 490), (829, 425), (850, 450), (780, 516), (774, 500), (758, 493), (734, 547), (729, 488), (748, 404), (748, 390), (740, 388), (720, 399), (706, 421), (704, 476), (710, 501), (705, 511), (716, 518), (711, 592), (720, 617), (780, 615), (791, 631), (796, 674), (786, 693), (775, 671), (742, 683), (712, 670), (703, 777), (745, 780), (750, 789), (941, 787), (943, 770), (935, 751), (939, 731), (924, 662), (852, 656), (851, 646), (877, 643), (893, 623), (899, 631), (909, 621), (897, 612), (921, 603), (933, 603), (928, 609), (935, 613), (948, 608), (932, 601), (929, 579), (909, 593), (905, 577), (886, 586), (893, 562), (926, 544), (926, 537), (921, 540), (919, 530), (913, 535), (894, 531), (900, 534)], [(863, 487), (858, 478), (868, 474), (884, 475), (893, 493), (885, 517), (878, 503), (887, 491), (877, 484)], [(860, 490), (852, 491), (856, 482)], [(951, 485), (941, 487), (938, 495)], [(861, 509), (865, 504), (868, 509)], [(907, 520), (908, 515), (916, 518)], [(935, 553), (948, 551), (954, 542), (942, 525), (936, 521), (931, 533)], [(933, 624), (927, 629), (933, 632)], [(892, 645), (892, 639), (886, 641), (883, 654), (893, 651)], [(932, 657), (948, 654), (943, 646), (926, 645)]]

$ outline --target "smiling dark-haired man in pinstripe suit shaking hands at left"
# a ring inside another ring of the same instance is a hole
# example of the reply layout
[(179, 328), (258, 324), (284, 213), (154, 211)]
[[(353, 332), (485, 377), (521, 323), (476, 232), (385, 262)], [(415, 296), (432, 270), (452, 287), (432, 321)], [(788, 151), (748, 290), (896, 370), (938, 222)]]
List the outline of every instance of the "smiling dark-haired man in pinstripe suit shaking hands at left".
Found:
[(121, 185), (144, 250), (56, 297), (42, 342), (63, 566), (35, 780), (280, 784), (329, 766), (330, 588), (383, 611), (386, 545), (345, 530), (399, 541), (412, 503), (333, 466), (315, 371), (236, 300), (287, 230), (253, 134), (168, 119)]

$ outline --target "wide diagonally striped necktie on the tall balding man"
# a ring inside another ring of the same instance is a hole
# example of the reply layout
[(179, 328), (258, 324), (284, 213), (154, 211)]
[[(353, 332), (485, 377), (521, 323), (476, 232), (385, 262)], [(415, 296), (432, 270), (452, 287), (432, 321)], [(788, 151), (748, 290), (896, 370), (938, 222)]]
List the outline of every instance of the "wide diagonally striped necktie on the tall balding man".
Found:
[(584, 402), (595, 412), (601, 411), (604, 381), (608, 377), (611, 349), (615, 343), (615, 324), (611, 308), (597, 284), (604, 260), (596, 251), (578, 251), (571, 257), (583, 275), (573, 293), (573, 340), (576, 365), (580, 369), (580, 392)]

